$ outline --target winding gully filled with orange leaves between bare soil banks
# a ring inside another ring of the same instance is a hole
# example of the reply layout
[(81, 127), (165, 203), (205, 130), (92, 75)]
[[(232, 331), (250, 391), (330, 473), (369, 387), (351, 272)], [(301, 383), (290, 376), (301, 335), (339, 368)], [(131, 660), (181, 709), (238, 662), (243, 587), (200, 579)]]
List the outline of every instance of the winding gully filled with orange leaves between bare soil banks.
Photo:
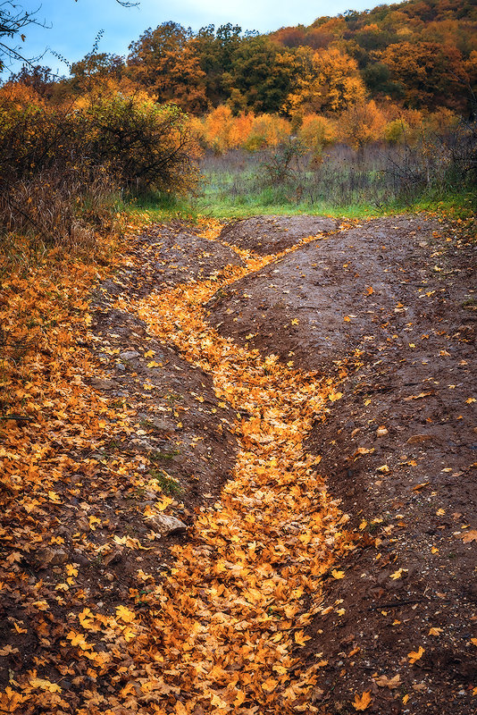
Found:
[[(221, 501), (202, 511), (173, 575), (150, 595), (162, 606), (160, 660), (179, 687), (164, 711), (313, 711), (320, 663), (302, 671), (295, 652), (319, 610), (319, 577), (353, 548), (346, 517), (316, 474), (319, 460), (303, 446), (325, 400), (339, 398), (331, 380), (238, 348), (205, 321), (202, 306), (217, 290), (274, 258), (240, 253), (245, 268), (135, 306), (151, 334), (213, 374), (217, 397), (238, 412), (241, 447)], [(127, 308), (124, 299), (118, 307)]]

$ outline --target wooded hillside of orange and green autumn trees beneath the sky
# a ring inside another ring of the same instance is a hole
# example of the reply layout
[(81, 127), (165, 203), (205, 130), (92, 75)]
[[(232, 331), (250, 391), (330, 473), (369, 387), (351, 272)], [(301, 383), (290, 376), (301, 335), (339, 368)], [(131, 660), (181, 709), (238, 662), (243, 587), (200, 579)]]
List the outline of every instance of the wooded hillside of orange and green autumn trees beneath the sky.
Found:
[(193, 32), (168, 21), (133, 39), (128, 56), (96, 51), (74, 63), (68, 79), (50, 81), (38, 68), (15, 80), (57, 99), (107, 80), (192, 114), (224, 103), (236, 114), (333, 114), (365, 97), (469, 114), (477, 86), (477, 8), (470, 1), (410, 0), (270, 35), (231, 24)]

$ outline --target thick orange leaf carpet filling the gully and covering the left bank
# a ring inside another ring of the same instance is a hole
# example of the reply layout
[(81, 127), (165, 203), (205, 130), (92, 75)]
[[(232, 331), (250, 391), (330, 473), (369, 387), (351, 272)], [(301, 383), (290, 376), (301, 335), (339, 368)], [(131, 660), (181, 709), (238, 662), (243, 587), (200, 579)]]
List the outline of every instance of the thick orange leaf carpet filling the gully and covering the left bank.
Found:
[[(219, 228), (203, 235), (213, 240)], [(155, 489), (151, 514), (172, 499), (147, 481), (142, 455), (101, 452), (138, 426), (133, 409), (88, 385), (100, 371), (88, 294), (108, 269), (50, 252), (4, 282), (0, 657), (9, 665), (0, 711), (313, 710), (307, 694), (322, 663), (301, 669), (297, 651), (320, 609), (320, 576), (354, 541), (303, 443), (340, 395), (331, 380), (239, 348), (206, 324), (202, 305), (216, 290), (273, 259), (237, 251), (245, 266), (212, 280), (134, 306), (118, 299), (213, 374), (218, 398), (237, 410), (240, 451), (221, 500), (175, 547), (170, 576), (156, 583), (139, 569), (138, 589), (109, 609), (91, 602), (81, 555), (107, 563), (117, 544), (152, 549), (154, 534), (146, 543), (113, 534), (108, 498), (120, 484)]]

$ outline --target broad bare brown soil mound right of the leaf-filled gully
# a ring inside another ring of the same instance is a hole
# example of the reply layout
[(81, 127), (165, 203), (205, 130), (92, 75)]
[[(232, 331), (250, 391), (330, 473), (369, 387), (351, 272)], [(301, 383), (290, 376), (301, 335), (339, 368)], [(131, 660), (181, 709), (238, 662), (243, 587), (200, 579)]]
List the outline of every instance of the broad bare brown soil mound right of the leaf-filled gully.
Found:
[[(276, 227), (269, 240), (260, 217), (222, 236), (251, 246), (257, 227), (260, 252), (274, 253)], [(435, 220), (376, 219), (297, 248), (208, 306), (238, 343), (341, 380), (307, 445), (363, 534), (309, 629), (327, 712), (354, 712), (368, 691), (376, 713), (475, 708), (474, 260)]]

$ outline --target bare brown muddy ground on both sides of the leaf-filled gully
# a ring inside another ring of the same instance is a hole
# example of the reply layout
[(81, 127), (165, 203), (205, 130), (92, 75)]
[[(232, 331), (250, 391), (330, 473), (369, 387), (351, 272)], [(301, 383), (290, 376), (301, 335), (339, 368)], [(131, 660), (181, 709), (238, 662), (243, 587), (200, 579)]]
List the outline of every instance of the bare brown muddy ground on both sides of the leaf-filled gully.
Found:
[[(101, 369), (91, 384), (118, 409), (127, 405), (135, 429), (88, 458), (144, 455), (185, 526), (216, 501), (238, 449), (236, 414), (216, 397), (210, 374), (155, 340), (116, 299), (132, 303), (244, 265), (234, 248), (276, 255), (316, 235), (221, 288), (206, 307), (222, 335), (333, 377), (341, 393), (306, 450), (321, 455), (318, 468), (359, 540), (336, 565), (339, 577), (325, 575), (322, 612), (297, 649), (320, 663), (309, 704), (351, 713), (355, 695), (369, 691), (366, 711), (380, 715), (469, 715), (477, 709), (474, 244), (423, 215), (362, 223), (257, 216), (229, 223), (219, 240), (198, 232), (149, 227), (131, 240), (129, 265), (96, 290), (91, 347)], [(100, 483), (88, 484), (84, 501), (107, 512), (112, 533), (145, 537), (141, 515), (155, 494), (134, 491), (126, 476), (98, 501)], [(62, 523), (68, 551), (75, 509)], [(150, 551), (118, 548), (107, 563), (78, 548), (68, 559), (81, 565), (85, 602), (101, 598), (113, 610), (138, 567), (161, 578), (173, 568), (171, 547), (187, 541), (180, 528)], [(31, 563), (32, 577), (49, 566)], [(25, 668), (37, 648), (26, 638), (15, 641)], [(0, 669), (3, 684), (19, 666), (20, 656), (12, 658)]]

